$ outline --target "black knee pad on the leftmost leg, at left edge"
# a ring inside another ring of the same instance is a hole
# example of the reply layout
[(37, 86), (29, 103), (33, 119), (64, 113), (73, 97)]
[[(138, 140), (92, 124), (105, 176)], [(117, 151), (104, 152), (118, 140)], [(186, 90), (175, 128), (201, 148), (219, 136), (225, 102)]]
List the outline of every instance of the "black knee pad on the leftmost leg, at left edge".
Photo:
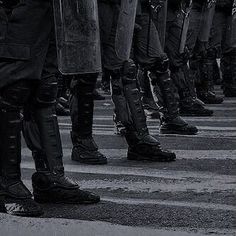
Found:
[(31, 93), (32, 84), (21, 80), (1, 90), (0, 108), (21, 109), (26, 104)]

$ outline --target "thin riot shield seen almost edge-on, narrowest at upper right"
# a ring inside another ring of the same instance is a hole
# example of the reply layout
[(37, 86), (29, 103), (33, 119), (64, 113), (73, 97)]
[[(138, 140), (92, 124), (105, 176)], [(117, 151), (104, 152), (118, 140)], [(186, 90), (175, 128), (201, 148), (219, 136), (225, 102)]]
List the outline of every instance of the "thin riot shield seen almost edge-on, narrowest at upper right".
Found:
[(190, 0), (189, 3), (185, 3), (181, 5), (181, 13), (183, 17), (183, 24), (181, 29), (181, 35), (180, 35), (180, 43), (179, 43), (179, 53), (184, 53), (186, 41), (187, 41), (187, 35), (188, 35), (188, 29), (189, 29), (189, 22), (190, 22), (190, 13), (192, 10), (193, 1)]

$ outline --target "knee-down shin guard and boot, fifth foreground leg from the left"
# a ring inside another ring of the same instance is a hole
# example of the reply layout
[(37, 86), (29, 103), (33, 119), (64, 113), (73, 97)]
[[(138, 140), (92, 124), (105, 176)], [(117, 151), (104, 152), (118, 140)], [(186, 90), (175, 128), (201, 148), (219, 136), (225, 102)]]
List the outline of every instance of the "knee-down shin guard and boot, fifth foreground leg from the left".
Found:
[[(168, 62), (163, 62), (168, 63)], [(181, 134), (195, 135), (198, 132), (197, 127), (189, 125), (179, 116), (179, 103), (176, 95), (176, 88), (170, 78), (168, 66), (160, 63), (156, 66), (161, 70), (152, 70), (150, 73), (151, 80), (154, 86), (154, 93), (158, 99), (158, 104), (161, 107), (161, 134)], [(163, 71), (163, 72), (162, 72)], [(161, 91), (161, 95), (158, 94)]]

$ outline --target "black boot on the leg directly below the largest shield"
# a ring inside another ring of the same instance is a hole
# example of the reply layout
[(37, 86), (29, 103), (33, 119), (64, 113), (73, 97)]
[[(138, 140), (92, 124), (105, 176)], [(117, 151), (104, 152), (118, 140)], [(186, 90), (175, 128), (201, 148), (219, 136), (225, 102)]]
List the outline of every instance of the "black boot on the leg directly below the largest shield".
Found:
[(85, 164), (107, 164), (107, 158), (98, 151), (98, 147), (92, 136), (78, 137), (71, 132), (73, 149), (71, 159)]

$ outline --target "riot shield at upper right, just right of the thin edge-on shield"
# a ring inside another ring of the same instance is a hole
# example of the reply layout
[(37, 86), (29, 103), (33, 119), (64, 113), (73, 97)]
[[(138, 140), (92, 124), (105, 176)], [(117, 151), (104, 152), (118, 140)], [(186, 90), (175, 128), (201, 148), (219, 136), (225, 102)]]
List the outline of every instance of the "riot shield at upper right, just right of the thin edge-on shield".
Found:
[(199, 32), (199, 40), (201, 42), (208, 42), (215, 14), (216, 0), (206, 0), (202, 11), (202, 20)]

